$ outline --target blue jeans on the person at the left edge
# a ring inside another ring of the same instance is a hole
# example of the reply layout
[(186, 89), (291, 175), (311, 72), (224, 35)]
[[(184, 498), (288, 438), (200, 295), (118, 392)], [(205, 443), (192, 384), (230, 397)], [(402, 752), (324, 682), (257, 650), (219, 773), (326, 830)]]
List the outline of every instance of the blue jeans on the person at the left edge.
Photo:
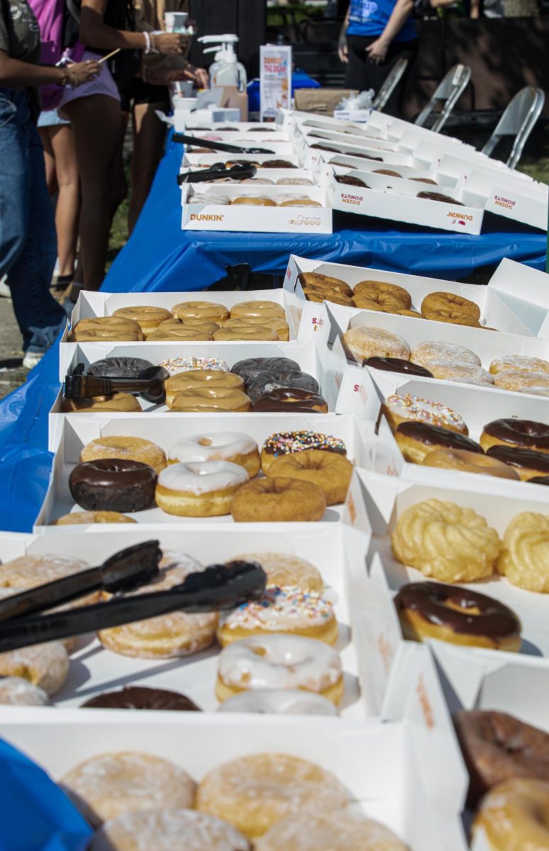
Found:
[(57, 243), (43, 147), (22, 89), (0, 87), (0, 277), (25, 351), (45, 351), (65, 312), (49, 292)]

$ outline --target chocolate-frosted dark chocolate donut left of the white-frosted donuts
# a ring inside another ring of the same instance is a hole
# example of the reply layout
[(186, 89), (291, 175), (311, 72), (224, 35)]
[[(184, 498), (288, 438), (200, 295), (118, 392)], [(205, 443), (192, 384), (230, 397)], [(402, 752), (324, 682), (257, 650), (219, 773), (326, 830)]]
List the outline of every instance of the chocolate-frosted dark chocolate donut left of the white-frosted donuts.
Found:
[(77, 464), (69, 476), (72, 499), (86, 511), (143, 511), (154, 500), (157, 474), (148, 464), (101, 458)]

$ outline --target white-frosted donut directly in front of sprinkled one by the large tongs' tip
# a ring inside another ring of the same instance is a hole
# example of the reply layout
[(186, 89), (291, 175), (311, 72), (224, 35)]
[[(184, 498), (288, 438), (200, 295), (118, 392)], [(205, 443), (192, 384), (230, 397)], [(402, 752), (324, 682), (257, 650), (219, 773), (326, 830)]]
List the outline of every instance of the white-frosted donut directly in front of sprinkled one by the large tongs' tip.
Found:
[(335, 704), (343, 697), (340, 656), (323, 641), (292, 633), (252, 634), (223, 646), (215, 684), (220, 703), (239, 692), (265, 688), (300, 689)]

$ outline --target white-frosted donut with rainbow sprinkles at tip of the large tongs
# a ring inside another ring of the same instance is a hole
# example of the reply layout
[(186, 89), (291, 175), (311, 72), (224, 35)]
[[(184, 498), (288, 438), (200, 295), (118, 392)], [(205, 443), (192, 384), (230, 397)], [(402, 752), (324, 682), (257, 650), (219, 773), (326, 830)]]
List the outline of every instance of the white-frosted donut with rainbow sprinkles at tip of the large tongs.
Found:
[(279, 632), (335, 644), (338, 628), (334, 609), (318, 591), (268, 585), (259, 601), (243, 603), (220, 616), (217, 640), (226, 647), (240, 638)]

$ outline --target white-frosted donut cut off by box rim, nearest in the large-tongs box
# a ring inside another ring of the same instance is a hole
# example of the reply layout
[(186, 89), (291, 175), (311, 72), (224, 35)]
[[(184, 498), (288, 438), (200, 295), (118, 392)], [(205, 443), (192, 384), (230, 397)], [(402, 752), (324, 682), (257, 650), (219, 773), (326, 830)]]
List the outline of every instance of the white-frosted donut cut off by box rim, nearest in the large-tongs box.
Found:
[[(323, 644), (323, 647), (328, 645)], [(217, 711), (260, 715), (338, 715), (337, 707), (330, 700), (300, 688), (256, 688), (239, 692), (224, 700)]]

